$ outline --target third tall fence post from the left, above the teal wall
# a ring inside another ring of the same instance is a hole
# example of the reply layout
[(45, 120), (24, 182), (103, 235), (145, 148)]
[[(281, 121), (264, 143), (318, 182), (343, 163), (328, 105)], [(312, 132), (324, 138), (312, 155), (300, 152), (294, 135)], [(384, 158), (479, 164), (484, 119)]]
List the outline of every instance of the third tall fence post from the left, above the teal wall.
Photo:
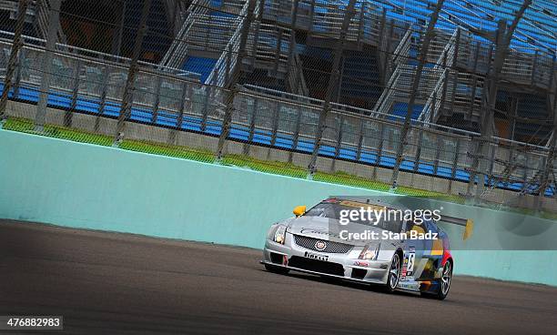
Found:
[(147, 17), (151, 9), (151, 0), (143, 1), (143, 8), (141, 9), (141, 19), (139, 21), (139, 29), (137, 30), (136, 42), (134, 45), (134, 53), (132, 55), (131, 63), (127, 71), (126, 86), (124, 88), (124, 96), (122, 97), (122, 106), (120, 107), (120, 114), (118, 115), (118, 123), (116, 125), (116, 134), (114, 135), (113, 147), (117, 147), (119, 142), (124, 138), (124, 129), (126, 127), (126, 119), (131, 114), (131, 106), (134, 96), (134, 86), (136, 83), (136, 76), (139, 66), (137, 61), (141, 56), (141, 46), (143, 45), (143, 38), (147, 32)]

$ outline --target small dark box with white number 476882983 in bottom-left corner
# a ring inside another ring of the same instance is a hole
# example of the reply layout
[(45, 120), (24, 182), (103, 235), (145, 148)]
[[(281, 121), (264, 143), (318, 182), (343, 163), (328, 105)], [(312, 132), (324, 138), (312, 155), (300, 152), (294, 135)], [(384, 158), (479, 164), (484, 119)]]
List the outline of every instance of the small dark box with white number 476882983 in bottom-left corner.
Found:
[(53, 315), (0, 315), (0, 330), (64, 330), (64, 317)]

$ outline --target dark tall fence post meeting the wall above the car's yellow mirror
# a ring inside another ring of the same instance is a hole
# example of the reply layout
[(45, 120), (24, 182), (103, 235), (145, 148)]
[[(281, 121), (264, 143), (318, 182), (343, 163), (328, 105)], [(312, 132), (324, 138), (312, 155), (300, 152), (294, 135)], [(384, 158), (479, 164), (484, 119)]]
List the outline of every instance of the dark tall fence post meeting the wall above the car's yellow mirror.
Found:
[(323, 131), (326, 127), (327, 116), (329, 115), (330, 109), (330, 100), (332, 99), (333, 95), (335, 94), (335, 90), (337, 88), (339, 82), (339, 66), (340, 66), (340, 58), (342, 57), (342, 51), (344, 50), (344, 46), (346, 43), (346, 36), (348, 34), (348, 29), (350, 25), (350, 21), (354, 16), (354, 7), (356, 5), (356, 0), (350, 0), (349, 5), (346, 9), (344, 14), (344, 20), (342, 21), (342, 27), (340, 28), (340, 35), (339, 39), (336, 41), (336, 48), (335, 54), (333, 57), (333, 65), (331, 68), (331, 73), (329, 76), (329, 85), (327, 86), (327, 92), (325, 95), (325, 100), (323, 102), (323, 108), (319, 113), (319, 121), (318, 121), (318, 128), (317, 134), (315, 137), (315, 144), (313, 146), (313, 152), (311, 153), (311, 159), (309, 160), (308, 170), (309, 176), (312, 177), (316, 171), (317, 165), (317, 158), (319, 155), (319, 147), (321, 146), (321, 140), (323, 137)]

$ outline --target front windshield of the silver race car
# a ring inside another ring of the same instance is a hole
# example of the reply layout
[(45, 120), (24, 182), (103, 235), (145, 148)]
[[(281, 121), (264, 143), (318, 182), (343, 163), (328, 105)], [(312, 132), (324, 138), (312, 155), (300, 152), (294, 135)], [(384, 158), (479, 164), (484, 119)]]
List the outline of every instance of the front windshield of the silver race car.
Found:
[[(347, 203), (349, 203), (349, 205), (347, 205)], [(336, 220), (340, 220), (340, 218), (341, 218), (340, 211), (341, 210), (345, 210), (345, 209), (360, 210), (360, 208), (367, 208), (369, 206), (370, 205), (367, 205), (367, 204), (356, 204), (354, 202), (349, 202), (349, 201), (321, 202), (318, 205), (314, 206), (313, 208), (310, 208), (304, 214), (304, 216), (306, 216), (306, 217), (319, 217), (319, 218), (333, 218), (333, 219), (336, 219)], [(379, 208), (379, 207), (377, 207), (377, 208)], [(355, 219), (355, 220), (354, 219), (349, 219), (349, 222), (358, 223), (360, 225), (366, 225), (366, 226), (371, 226), (371, 227), (377, 227), (377, 228), (381, 228), (383, 230), (390, 230), (390, 231), (395, 232), (395, 233), (400, 233), (400, 231), (402, 230), (402, 220), (401, 219), (390, 218), (390, 219), (387, 220), (387, 219), (381, 218), (376, 225), (375, 222), (377, 222), (378, 220), (376, 219), (376, 217), (373, 213), (374, 212), (371, 211), (371, 215), (373, 216), (371, 220), (369, 218), (366, 218), (366, 219), (358, 218), (358, 219)]]

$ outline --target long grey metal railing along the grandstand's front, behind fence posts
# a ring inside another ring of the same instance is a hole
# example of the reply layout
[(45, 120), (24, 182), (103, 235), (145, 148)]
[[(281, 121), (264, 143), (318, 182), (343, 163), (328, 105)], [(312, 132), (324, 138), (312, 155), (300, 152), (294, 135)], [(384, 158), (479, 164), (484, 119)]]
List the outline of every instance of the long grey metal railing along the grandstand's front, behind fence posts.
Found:
[[(2, 64), (5, 64), (10, 47), (10, 41), (0, 40)], [(39, 62), (43, 52), (40, 46), (24, 47), (14, 92), (14, 97), (20, 101), (33, 103), (33, 96), (37, 95), (43, 76)], [(69, 107), (75, 112), (96, 117), (117, 117), (127, 76), (125, 63), (111, 63), (66, 52), (56, 52), (53, 63), (51, 106)], [(4, 76), (5, 71), (1, 75)], [(222, 95), (208, 98), (209, 89), (221, 91), (218, 87), (167, 72), (142, 68), (137, 76), (137, 94), (133, 96), (129, 121), (214, 136), (223, 121), (223, 105), (219, 98)], [(323, 104), (319, 99), (247, 85), (235, 97), (233, 131), (229, 139), (309, 155), (315, 143)], [(331, 104), (326, 125), (320, 150), (322, 156), (364, 166), (392, 166), (396, 147), (400, 145), (400, 117)], [(405, 139), (403, 157), (409, 163), (402, 170), (466, 182), (472, 167), (468, 152), (478, 136), (457, 128), (416, 122), (411, 125), (409, 137)], [(289, 143), (288, 147), (285, 147), (285, 141)], [(493, 162), (491, 179), (497, 183), (504, 182), (496, 184), (497, 188), (511, 188), (512, 183), (524, 183), (535, 178), (544, 167), (544, 159), (549, 153), (547, 147), (498, 137), (491, 137), (490, 143), (493, 158), (482, 159)], [(515, 147), (524, 148), (522, 154), (528, 164), (516, 163)], [(509, 172), (509, 166), (515, 168)]]

